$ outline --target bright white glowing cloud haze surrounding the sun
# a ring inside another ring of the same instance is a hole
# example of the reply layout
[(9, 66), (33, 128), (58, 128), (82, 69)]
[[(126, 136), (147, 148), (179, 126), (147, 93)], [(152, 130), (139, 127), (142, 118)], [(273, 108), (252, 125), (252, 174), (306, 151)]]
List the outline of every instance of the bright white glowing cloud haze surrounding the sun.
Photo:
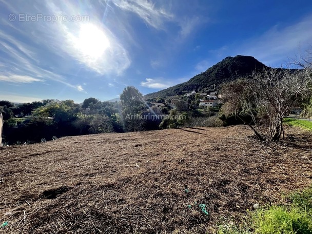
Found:
[[(53, 14), (71, 12), (76, 9), (73, 4), (59, 8), (51, 2), (47, 6)], [(77, 9), (77, 12), (79, 10)], [(57, 22), (55, 30), (58, 36), (51, 41), (54, 47), (61, 48), (61, 54), (68, 54), (75, 60), (99, 74), (122, 74), (131, 64), (128, 51), (117, 37), (100, 21)], [(53, 32), (55, 35), (55, 32)], [(53, 37), (52, 33), (49, 37)]]

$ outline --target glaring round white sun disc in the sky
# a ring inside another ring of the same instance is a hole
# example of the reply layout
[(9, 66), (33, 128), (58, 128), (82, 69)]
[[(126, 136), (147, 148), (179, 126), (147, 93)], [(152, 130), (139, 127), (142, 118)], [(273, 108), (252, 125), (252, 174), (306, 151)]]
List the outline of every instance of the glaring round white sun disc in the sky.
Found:
[(75, 47), (92, 60), (101, 57), (110, 43), (105, 32), (93, 24), (84, 24), (80, 27)]

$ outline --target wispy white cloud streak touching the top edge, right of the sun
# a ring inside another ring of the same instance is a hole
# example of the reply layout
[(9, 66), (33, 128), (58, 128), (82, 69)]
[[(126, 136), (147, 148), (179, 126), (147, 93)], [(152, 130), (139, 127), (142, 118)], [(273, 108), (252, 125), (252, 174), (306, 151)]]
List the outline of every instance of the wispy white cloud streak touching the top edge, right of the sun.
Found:
[(138, 15), (148, 25), (160, 29), (164, 21), (173, 18), (173, 15), (164, 8), (157, 8), (147, 0), (114, 0), (112, 3), (122, 10), (130, 11)]

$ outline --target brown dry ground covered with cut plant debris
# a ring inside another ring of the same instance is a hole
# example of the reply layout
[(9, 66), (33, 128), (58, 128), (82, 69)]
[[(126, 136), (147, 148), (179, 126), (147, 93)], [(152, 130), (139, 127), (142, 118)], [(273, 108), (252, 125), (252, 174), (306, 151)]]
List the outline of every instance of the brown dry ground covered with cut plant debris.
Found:
[(312, 183), (310, 135), (250, 135), (180, 128), (2, 147), (0, 232), (212, 233)]

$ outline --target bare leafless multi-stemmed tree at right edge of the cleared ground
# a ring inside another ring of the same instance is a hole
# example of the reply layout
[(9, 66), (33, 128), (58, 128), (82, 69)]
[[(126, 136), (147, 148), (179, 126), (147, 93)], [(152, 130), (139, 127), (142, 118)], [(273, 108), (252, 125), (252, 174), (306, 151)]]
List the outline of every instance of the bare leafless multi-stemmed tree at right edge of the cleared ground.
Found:
[[(278, 141), (284, 136), (283, 118), (295, 102), (302, 100), (311, 84), (309, 69), (265, 69), (253, 72), (242, 99), (243, 110), (252, 116), (260, 139)], [(266, 121), (265, 121), (266, 120)]]

